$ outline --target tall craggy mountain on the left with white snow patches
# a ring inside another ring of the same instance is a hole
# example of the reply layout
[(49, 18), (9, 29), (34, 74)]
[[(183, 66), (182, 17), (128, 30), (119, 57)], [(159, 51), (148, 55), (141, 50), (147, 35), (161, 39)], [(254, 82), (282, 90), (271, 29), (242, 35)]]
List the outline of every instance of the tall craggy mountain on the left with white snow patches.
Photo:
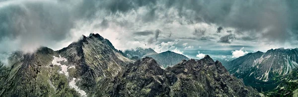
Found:
[(59, 51), (16, 52), (9, 66), (0, 67), (0, 97), (92, 96), (98, 83), (113, 79), (130, 62), (99, 34)]

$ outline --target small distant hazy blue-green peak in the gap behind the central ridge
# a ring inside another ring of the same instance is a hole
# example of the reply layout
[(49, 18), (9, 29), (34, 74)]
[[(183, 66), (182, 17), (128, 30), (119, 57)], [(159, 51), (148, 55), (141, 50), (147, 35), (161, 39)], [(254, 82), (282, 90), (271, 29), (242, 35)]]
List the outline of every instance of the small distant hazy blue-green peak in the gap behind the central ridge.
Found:
[(189, 58), (187, 58), (186, 56), (171, 51), (166, 51), (158, 54), (150, 54), (146, 56), (152, 57), (159, 65), (164, 68), (173, 66), (181, 62), (182, 60), (189, 60)]

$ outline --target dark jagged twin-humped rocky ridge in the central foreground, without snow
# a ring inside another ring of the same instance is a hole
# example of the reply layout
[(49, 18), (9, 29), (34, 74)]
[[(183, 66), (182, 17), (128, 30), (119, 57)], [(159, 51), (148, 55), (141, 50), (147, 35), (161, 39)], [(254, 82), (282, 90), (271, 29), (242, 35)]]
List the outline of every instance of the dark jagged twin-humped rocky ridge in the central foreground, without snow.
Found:
[(229, 75), (219, 61), (208, 55), (161, 69), (149, 57), (129, 64), (111, 81), (112, 89), (100, 96), (111, 97), (259, 97), (256, 90), (244, 86)]

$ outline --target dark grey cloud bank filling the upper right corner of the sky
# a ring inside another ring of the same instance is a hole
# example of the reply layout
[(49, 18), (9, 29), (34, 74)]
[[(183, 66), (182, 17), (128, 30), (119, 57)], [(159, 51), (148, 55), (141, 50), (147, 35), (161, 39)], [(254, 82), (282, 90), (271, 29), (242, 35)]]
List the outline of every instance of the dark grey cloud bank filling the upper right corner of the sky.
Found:
[(291, 37), (287, 29), (293, 30), (298, 24), (298, 1), (169, 0), (165, 4), (177, 8), (179, 16), (192, 21), (189, 23), (215, 23), (251, 34), (262, 33), (262, 38), (280, 43)]

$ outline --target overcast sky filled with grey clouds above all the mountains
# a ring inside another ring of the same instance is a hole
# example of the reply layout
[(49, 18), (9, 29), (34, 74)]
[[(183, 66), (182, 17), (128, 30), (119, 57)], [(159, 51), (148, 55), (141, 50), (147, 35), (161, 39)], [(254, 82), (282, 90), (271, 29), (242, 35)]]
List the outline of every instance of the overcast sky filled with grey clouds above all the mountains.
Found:
[(298, 0), (4, 0), (0, 52), (62, 49), (99, 33), (120, 50), (298, 47)]

